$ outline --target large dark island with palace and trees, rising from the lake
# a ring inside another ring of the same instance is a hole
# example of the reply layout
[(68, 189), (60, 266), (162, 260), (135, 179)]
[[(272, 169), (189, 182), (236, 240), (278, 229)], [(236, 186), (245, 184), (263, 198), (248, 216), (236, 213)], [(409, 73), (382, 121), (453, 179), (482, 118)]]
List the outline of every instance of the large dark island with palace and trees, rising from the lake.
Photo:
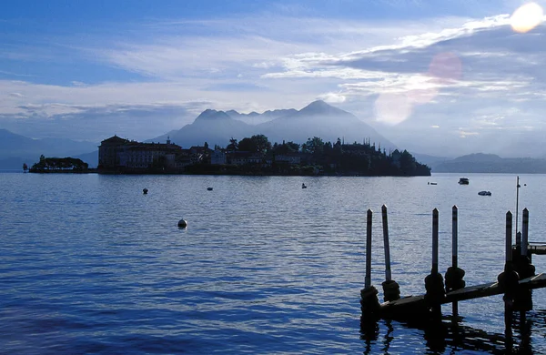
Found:
[(231, 138), (227, 147), (171, 143), (144, 143), (109, 137), (98, 150), (98, 172), (103, 174), (217, 174), (282, 176), (430, 176), (407, 151), (363, 144), (332, 144), (320, 137), (303, 144), (292, 141), (271, 144), (268, 137)]

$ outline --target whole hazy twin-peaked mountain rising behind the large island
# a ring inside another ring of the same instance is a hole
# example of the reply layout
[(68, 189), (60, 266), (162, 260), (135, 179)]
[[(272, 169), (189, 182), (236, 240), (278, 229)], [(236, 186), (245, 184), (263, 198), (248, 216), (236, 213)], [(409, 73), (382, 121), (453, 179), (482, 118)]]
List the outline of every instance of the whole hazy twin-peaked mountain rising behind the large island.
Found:
[(320, 137), (323, 141), (335, 143), (339, 138), (346, 143), (359, 142), (364, 139), (370, 140), (386, 149), (394, 149), (396, 146), (387, 138), (358, 117), (343, 111), (337, 107), (329, 106), (324, 101), (314, 101), (300, 110), (273, 110), (263, 114), (250, 113), (247, 117), (276, 117), (268, 122), (255, 126), (248, 125), (241, 120), (235, 119), (242, 114), (230, 110), (227, 112), (207, 109), (203, 111), (195, 121), (180, 128), (177, 131), (170, 131), (167, 134), (155, 137), (148, 141), (165, 141), (170, 137), (173, 143), (182, 147), (203, 146), (205, 142), (209, 147), (218, 145), (226, 147), (229, 138), (234, 137), (241, 140), (244, 137), (263, 134), (268, 137), (271, 143), (293, 141), (305, 143), (309, 137)]

